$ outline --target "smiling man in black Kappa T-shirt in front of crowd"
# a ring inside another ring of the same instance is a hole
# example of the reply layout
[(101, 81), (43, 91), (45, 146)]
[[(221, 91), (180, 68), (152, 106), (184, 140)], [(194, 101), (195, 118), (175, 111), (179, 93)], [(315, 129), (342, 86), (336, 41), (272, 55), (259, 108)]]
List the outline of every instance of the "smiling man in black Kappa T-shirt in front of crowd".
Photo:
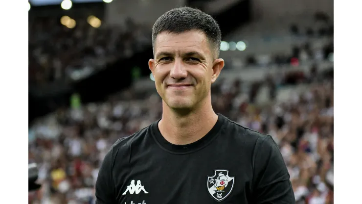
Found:
[(176, 8), (152, 31), (148, 65), (162, 119), (113, 145), (96, 181), (97, 204), (294, 204), (271, 136), (212, 109), (210, 87), (224, 67), (215, 20)]

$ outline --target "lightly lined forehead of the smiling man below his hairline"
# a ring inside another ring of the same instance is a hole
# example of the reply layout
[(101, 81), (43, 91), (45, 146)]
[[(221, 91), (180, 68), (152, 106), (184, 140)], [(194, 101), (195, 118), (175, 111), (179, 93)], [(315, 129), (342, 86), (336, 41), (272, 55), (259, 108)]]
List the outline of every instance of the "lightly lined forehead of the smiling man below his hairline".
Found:
[(182, 33), (161, 32), (155, 42), (155, 55), (159, 52), (192, 52), (211, 54), (210, 44), (202, 31), (192, 30)]

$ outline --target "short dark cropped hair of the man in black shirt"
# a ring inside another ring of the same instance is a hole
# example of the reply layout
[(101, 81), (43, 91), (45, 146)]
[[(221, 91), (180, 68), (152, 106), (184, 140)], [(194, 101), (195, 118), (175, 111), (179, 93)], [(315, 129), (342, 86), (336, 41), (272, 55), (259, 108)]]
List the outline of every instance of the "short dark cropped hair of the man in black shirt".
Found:
[(219, 56), (221, 43), (219, 25), (210, 15), (187, 6), (171, 9), (157, 19), (152, 27), (152, 47), (154, 51), (159, 33), (163, 31), (182, 33), (190, 30), (203, 31), (211, 46), (214, 47), (216, 57)]

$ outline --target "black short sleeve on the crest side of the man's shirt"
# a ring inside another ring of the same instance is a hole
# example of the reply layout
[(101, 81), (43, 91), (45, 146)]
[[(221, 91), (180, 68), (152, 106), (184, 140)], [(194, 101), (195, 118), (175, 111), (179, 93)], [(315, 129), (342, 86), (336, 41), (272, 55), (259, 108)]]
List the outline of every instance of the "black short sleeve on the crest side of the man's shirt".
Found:
[(295, 204), (287, 167), (271, 136), (258, 139), (253, 155), (253, 203)]

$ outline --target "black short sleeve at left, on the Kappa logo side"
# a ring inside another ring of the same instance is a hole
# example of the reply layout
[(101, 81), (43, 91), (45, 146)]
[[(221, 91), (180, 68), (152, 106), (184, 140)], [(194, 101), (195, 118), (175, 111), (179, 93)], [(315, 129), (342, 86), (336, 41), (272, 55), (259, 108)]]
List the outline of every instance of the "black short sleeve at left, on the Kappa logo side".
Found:
[(95, 204), (116, 204), (112, 176), (113, 148), (106, 154), (95, 182)]

